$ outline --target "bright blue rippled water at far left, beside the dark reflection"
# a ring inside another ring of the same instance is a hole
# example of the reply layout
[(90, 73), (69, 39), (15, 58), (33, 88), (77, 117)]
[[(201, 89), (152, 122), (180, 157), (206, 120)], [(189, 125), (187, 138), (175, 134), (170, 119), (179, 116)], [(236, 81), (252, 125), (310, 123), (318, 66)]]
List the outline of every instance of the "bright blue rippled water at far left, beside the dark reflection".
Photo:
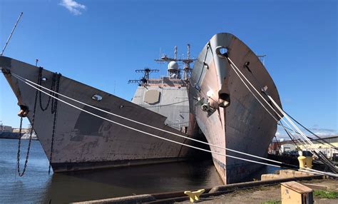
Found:
[[(26, 157), (27, 141), (21, 143), (21, 170)], [(26, 173), (19, 177), (16, 172), (18, 141), (0, 139), (0, 203), (42, 203), (51, 176), (48, 160), (38, 141), (32, 141)]]

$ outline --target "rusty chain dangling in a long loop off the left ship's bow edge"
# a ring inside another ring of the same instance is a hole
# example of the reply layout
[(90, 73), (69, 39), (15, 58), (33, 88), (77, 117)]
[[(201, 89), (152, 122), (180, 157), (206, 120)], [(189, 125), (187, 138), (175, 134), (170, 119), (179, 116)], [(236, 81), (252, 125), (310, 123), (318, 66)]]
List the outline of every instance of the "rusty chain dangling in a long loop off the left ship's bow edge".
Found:
[[(40, 74), (39, 74), (38, 77), (39, 77), (38, 78), (38, 83), (39, 83), (39, 81), (41, 80)], [(36, 90), (36, 92), (35, 92), (35, 101), (34, 101), (33, 116), (31, 118), (31, 133), (29, 134), (29, 145), (28, 145), (28, 148), (27, 148), (26, 160), (25, 160), (24, 169), (22, 170), (22, 172), (20, 172), (20, 148), (21, 148), (22, 116), (20, 118), (18, 153), (16, 155), (17, 170), (18, 170), (18, 174), (19, 174), (20, 177), (23, 176), (24, 173), (26, 172), (27, 163), (28, 163), (28, 160), (29, 160), (29, 151), (31, 150), (31, 136), (32, 136), (33, 131), (34, 131), (34, 121), (35, 121), (35, 112), (36, 112), (36, 102), (38, 101), (38, 93), (39, 93), (39, 91)]]

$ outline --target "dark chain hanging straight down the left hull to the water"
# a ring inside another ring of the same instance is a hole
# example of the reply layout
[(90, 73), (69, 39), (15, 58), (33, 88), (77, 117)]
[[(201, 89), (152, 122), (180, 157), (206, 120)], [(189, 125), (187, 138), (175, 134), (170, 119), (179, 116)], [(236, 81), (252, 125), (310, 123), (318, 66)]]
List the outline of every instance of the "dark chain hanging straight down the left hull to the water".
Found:
[[(60, 79), (61, 79), (61, 74), (58, 74), (58, 78), (56, 80), (56, 88), (55, 88), (55, 92), (56, 93), (52, 93), (51, 95), (55, 96), (56, 98), (58, 98), (58, 91), (60, 88)], [(57, 111), (58, 111), (58, 100), (52, 98), (51, 100), (51, 113), (54, 114), (54, 118), (53, 118), (53, 131), (51, 134), (51, 154), (49, 155), (49, 166), (48, 166), (48, 174), (51, 173), (51, 160), (53, 158), (53, 148), (54, 148), (54, 138), (55, 138), (55, 129), (56, 129), (56, 119), (57, 119)]]

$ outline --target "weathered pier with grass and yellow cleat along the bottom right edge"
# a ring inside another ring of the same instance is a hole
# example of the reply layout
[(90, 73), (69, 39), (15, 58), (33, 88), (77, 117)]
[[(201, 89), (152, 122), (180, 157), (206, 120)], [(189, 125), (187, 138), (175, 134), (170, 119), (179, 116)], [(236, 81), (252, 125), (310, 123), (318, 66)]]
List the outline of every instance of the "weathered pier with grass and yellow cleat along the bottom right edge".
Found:
[[(320, 189), (335, 190), (338, 192), (338, 182), (336, 180), (326, 179), (326, 177), (323, 177), (322, 175), (311, 175), (311, 174), (306, 175), (303, 173), (298, 174), (292, 171), (285, 170), (280, 172), (279, 175), (277, 174), (265, 175), (262, 177), (273, 179), (258, 180), (245, 183), (234, 183), (230, 185), (215, 186), (214, 188), (206, 188), (205, 193), (200, 195), (199, 202), (238, 203), (240, 199), (246, 199), (248, 202), (251, 200), (259, 201), (253, 203), (269, 201), (271, 200), (270, 198), (276, 199), (280, 198), (280, 183), (292, 180), (300, 181), (303, 184), (309, 183), (309, 188), (315, 186)], [(193, 189), (191, 191), (195, 190), (198, 189)], [(279, 194), (277, 192), (279, 192)], [(240, 195), (240, 198), (237, 198), (238, 197), (237, 195)], [(80, 203), (176, 203), (176, 202), (190, 203), (188, 195), (185, 195), (183, 191), (146, 194), (146, 195), (132, 195), (121, 198), (84, 201)], [(337, 200), (334, 200), (334, 202), (337, 202)]]

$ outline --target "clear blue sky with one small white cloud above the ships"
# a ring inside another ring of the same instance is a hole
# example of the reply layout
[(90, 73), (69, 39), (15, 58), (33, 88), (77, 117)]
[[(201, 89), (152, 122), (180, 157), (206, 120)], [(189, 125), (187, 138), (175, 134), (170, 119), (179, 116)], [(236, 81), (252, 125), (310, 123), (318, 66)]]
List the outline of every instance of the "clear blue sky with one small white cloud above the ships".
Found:
[[(160, 68), (160, 49), (198, 53), (230, 32), (257, 54), (285, 111), (316, 133), (334, 134), (337, 118), (336, 1), (13, 1), (0, 0), (0, 46), (24, 15), (5, 56), (34, 63), (130, 100), (135, 69)], [(0, 76), (0, 121), (17, 127), (19, 107)], [(27, 125), (25, 122), (25, 126)]]

